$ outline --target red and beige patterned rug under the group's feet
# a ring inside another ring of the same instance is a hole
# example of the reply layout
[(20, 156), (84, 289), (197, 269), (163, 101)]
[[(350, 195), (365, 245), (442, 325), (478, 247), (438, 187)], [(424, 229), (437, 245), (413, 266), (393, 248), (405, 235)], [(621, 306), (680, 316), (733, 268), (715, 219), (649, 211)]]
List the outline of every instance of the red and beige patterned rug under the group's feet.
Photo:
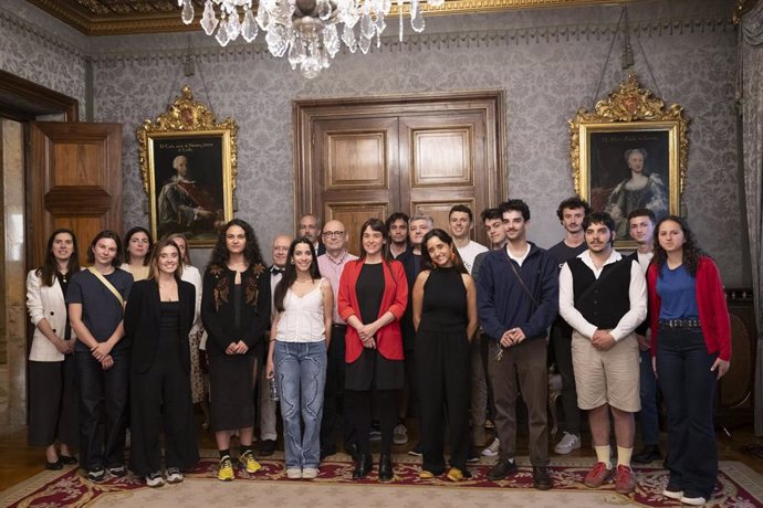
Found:
[[(237, 472), (236, 481), (216, 479), (217, 461), (202, 458), (198, 467), (186, 474), (182, 484), (160, 488), (146, 487), (133, 475), (109, 478), (102, 484), (87, 481), (77, 469), (43, 472), (33, 478), (0, 493), (3, 507), (168, 507), (168, 506), (247, 506), (272, 502), (274, 506), (310, 506), (311, 508), (355, 506), (388, 507), (457, 507), (457, 506), (680, 506), (660, 493), (667, 484), (667, 472), (659, 467), (636, 469), (636, 493), (623, 496), (608, 484), (588, 489), (583, 477), (590, 459), (554, 458), (551, 467), (554, 489), (539, 491), (532, 487), (532, 468), (520, 459), (520, 470), (511, 479), (491, 481), (487, 478), (490, 464), (470, 467), (472, 478), (459, 484), (445, 476), (421, 480), (419, 461), (404, 455), (395, 457), (395, 480), (379, 484), (376, 472), (363, 481), (352, 480), (353, 465), (346, 455), (330, 457), (314, 480), (290, 480), (285, 477), (280, 455), (261, 461), (263, 469), (255, 475)], [(657, 464), (655, 464), (657, 466)], [(763, 507), (763, 477), (743, 464), (722, 462), (713, 498), (707, 506)]]

